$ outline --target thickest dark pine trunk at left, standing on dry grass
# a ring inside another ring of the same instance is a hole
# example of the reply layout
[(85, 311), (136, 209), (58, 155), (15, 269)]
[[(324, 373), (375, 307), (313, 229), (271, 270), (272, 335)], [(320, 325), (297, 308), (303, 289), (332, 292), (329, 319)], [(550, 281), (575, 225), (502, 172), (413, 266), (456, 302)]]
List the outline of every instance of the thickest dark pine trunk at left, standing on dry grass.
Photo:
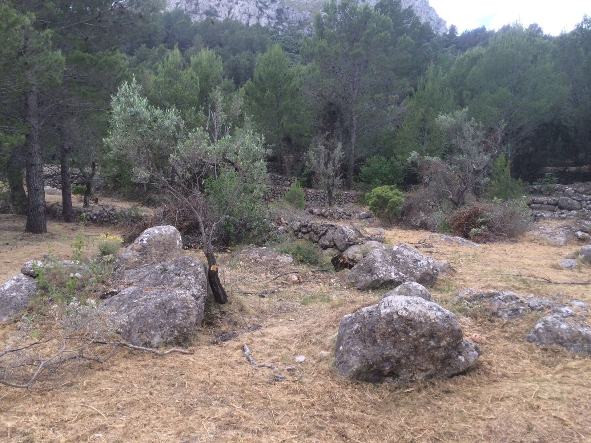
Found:
[(39, 142), (41, 118), (38, 105), (39, 91), (33, 86), (25, 93), (27, 108), (27, 138), (25, 139), (25, 163), (27, 167), (27, 225), (25, 232), (41, 234), (47, 232), (45, 212), (45, 184), (43, 181), (43, 155)]

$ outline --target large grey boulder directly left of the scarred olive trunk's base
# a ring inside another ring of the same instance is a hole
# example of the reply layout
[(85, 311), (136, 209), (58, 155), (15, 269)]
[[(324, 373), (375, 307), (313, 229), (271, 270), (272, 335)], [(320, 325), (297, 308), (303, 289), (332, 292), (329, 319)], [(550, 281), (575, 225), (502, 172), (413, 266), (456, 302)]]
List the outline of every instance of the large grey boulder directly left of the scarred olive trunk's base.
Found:
[(183, 256), (126, 271), (126, 286), (103, 303), (109, 321), (136, 346), (187, 346), (203, 318), (207, 298), (204, 263)]

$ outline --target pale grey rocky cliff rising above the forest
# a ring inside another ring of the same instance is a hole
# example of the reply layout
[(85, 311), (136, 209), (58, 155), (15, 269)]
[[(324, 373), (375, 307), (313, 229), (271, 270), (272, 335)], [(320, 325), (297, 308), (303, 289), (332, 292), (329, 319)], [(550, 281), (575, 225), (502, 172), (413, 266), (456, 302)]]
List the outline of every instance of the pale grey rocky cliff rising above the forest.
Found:
[[(322, 8), (324, 0), (167, 0), (167, 9), (183, 9), (193, 20), (226, 18), (245, 25), (260, 23), (262, 26), (287, 30), (306, 29), (311, 19)], [(362, 0), (365, 1), (365, 0)], [(368, 0), (375, 5), (378, 0)], [(431, 25), (439, 34), (447, 32), (446, 21), (431, 8), (428, 0), (402, 0), (402, 7), (411, 6), (423, 22)]]

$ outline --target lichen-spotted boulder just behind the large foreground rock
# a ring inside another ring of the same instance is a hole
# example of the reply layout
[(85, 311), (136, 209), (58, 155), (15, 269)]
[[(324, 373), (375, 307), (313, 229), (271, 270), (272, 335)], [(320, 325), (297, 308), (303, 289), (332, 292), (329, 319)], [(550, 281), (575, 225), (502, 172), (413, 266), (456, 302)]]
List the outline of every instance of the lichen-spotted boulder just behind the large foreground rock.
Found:
[(345, 276), (345, 282), (357, 289), (398, 286), (409, 281), (433, 286), (437, 263), (404, 243), (372, 250)]

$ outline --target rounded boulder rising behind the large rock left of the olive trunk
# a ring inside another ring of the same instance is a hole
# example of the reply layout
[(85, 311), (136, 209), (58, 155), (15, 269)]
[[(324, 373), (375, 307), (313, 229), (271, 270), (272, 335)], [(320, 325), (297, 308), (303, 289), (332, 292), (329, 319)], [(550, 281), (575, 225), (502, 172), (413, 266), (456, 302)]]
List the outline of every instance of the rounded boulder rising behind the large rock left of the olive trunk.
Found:
[(154, 226), (139, 234), (115, 260), (115, 269), (134, 269), (176, 258), (183, 250), (183, 240), (174, 226)]

